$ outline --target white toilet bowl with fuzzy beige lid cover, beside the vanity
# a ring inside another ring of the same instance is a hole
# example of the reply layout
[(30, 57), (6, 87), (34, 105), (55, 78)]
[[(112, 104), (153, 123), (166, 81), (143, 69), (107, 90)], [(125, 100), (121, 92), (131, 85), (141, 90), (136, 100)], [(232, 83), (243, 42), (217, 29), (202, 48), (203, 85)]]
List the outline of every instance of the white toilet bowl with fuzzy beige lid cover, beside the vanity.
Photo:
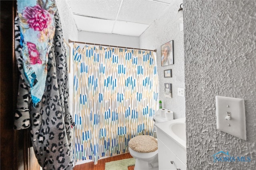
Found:
[(129, 152), (136, 159), (134, 170), (158, 170), (157, 140), (149, 135), (130, 139)]

